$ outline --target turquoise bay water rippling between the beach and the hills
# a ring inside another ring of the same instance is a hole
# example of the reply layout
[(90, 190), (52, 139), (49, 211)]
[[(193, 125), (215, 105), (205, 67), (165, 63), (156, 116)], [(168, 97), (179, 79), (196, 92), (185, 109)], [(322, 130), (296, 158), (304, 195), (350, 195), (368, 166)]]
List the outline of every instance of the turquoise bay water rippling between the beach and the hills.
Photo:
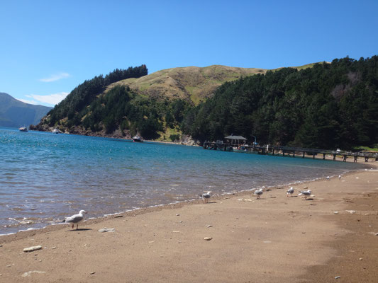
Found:
[(0, 128), (0, 234), (365, 168), (200, 147)]

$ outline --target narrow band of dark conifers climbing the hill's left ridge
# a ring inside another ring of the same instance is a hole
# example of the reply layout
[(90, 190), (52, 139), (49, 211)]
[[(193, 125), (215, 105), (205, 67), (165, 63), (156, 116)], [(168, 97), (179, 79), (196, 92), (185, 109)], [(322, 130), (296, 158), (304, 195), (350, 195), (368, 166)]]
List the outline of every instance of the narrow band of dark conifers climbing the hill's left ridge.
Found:
[(67, 127), (79, 125), (82, 118), (87, 115), (87, 105), (91, 104), (96, 97), (102, 93), (106, 86), (116, 81), (129, 78), (139, 78), (148, 74), (145, 64), (140, 67), (129, 67), (128, 69), (115, 69), (105, 77), (103, 75), (95, 76), (91, 80), (84, 81), (62, 100), (55, 108), (48, 112), (50, 119), (48, 123), (54, 126), (58, 121), (68, 118)]

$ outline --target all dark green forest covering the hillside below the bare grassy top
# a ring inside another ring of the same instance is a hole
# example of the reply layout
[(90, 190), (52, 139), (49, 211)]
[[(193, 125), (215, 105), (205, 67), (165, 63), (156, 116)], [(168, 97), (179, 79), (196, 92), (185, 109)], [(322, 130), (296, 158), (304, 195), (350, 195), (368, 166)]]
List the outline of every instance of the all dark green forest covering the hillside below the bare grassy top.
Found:
[[(243, 135), (260, 144), (351, 149), (378, 144), (378, 57), (335, 59), (297, 70), (283, 68), (224, 83), (213, 97), (151, 98), (115, 81), (145, 76), (145, 65), (96, 76), (74, 88), (38, 125), (110, 137), (140, 134), (199, 142)], [(105, 91), (106, 90), (106, 91)], [(169, 135), (168, 135), (169, 137)]]

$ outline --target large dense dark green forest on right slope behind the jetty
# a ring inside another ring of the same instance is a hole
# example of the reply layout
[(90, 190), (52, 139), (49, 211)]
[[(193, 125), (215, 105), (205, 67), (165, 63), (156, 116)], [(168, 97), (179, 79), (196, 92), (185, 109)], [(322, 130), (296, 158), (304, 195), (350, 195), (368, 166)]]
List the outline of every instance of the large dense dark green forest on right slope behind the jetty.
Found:
[(260, 144), (372, 146), (378, 143), (378, 57), (346, 57), (224, 83), (187, 112), (181, 128), (199, 141), (238, 134)]

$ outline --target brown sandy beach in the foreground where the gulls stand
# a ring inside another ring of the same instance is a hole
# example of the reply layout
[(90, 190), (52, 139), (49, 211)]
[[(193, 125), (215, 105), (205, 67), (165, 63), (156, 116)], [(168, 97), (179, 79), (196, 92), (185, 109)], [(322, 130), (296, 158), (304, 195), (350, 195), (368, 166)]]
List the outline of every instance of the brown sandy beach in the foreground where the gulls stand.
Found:
[(304, 186), (1, 236), (0, 282), (378, 282), (378, 171)]

